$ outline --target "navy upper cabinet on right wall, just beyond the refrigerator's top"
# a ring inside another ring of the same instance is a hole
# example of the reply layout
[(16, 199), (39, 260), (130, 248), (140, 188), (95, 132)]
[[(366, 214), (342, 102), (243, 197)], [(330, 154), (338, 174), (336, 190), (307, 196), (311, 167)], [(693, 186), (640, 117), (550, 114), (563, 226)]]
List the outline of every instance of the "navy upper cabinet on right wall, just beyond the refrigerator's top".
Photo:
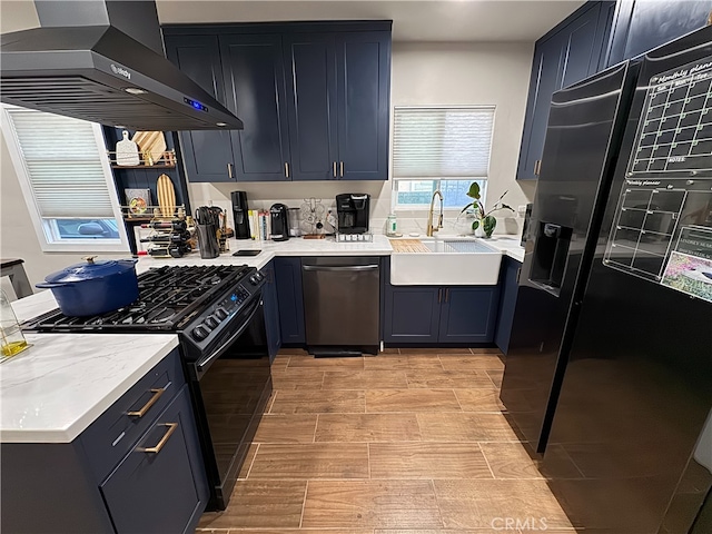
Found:
[(586, 2), (536, 41), (517, 180), (538, 178), (552, 95), (597, 72), (615, 2)]

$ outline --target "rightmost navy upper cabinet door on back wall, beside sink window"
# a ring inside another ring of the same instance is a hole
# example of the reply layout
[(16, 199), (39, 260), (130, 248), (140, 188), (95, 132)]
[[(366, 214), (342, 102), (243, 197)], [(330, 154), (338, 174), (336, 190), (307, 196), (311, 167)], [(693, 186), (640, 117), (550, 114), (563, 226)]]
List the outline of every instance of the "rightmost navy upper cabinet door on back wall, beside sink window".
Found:
[(388, 179), (390, 31), (345, 32), (338, 50), (338, 176)]

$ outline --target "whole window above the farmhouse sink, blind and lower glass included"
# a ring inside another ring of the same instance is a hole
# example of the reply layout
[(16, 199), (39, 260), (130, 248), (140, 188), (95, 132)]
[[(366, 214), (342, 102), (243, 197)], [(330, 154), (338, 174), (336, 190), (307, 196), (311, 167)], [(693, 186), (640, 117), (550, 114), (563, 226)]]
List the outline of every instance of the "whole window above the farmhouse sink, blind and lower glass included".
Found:
[(494, 106), (396, 107), (393, 188), (397, 207), (429, 204), (439, 189), (446, 207), (462, 207), (473, 181), (486, 190)]

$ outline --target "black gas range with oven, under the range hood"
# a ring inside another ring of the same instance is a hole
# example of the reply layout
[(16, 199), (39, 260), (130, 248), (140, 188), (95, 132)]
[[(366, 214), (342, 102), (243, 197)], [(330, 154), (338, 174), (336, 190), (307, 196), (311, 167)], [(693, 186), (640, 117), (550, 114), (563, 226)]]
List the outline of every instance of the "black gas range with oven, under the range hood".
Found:
[[(50, 312), (26, 329), (176, 333), (211, 495), (225, 510), (271, 394), (261, 290), (254, 267), (160, 267), (138, 275), (139, 299), (95, 317)], [(229, 417), (229, 425), (224, 424)]]

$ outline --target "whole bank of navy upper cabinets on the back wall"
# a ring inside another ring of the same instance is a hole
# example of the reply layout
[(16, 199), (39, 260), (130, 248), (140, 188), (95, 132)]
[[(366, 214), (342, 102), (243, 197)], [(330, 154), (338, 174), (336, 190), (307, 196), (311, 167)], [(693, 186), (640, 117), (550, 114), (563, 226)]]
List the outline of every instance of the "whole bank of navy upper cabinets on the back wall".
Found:
[(387, 180), (390, 22), (168, 27), (245, 129), (184, 132), (190, 181)]

